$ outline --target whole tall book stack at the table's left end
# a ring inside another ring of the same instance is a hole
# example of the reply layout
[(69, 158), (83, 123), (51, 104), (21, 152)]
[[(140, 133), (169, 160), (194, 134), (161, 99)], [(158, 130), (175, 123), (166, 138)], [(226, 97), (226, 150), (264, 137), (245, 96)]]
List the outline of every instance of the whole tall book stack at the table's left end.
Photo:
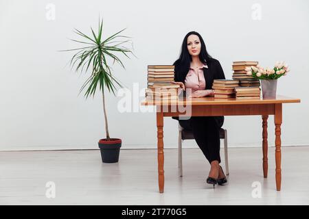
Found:
[(179, 84), (174, 81), (174, 66), (148, 65), (148, 88), (146, 100), (176, 100)]

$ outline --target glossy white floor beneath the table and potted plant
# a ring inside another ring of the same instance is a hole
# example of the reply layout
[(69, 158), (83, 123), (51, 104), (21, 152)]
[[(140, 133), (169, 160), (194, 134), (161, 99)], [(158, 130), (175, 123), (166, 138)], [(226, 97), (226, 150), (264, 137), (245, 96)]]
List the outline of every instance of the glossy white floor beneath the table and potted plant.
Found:
[[(274, 158), (271, 147), (264, 179), (262, 149), (229, 149), (229, 184), (214, 189), (205, 183), (209, 164), (200, 149), (183, 149), (182, 178), (176, 149), (165, 149), (160, 194), (156, 150), (122, 150), (115, 164), (103, 164), (98, 150), (0, 152), (0, 204), (308, 205), (309, 146), (282, 148), (281, 192), (275, 190)], [(52, 194), (50, 181), (55, 198), (46, 196)]]

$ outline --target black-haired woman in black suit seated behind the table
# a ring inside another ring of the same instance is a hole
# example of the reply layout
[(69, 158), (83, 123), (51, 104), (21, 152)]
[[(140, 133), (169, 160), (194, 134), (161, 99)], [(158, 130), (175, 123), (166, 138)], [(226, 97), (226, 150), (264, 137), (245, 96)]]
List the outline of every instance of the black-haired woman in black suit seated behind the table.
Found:
[[(213, 96), (214, 79), (225, 79), (220, 62), (207, 53), (205, 42), (196, 31), (189, 32), (183, 39), (180, 57), (174, 66), (174, 83), (183, 90), (192, 89), (192, 97)], [(179, 117), (172, 118), (179, 120)], [(181, 127), (192, 129), (196, 143), (210, 163), (207, 183), (212, 185), (227, 183), (220, 166), (219, 130), (223, 122), (223, 116), (192, 116), (189, 120), (179, 120)]]

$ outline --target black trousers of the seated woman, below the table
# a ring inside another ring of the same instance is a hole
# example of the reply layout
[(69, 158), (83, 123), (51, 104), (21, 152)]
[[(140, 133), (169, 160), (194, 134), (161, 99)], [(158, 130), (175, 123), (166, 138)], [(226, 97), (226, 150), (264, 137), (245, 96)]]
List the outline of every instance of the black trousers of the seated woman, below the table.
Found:
[(192, 116), (189, 120), (179, 120), (184, 129), (193, 131), (199, 148), (203, 151), (209, 164), (217, 160), (220, 164), (220, 127), (214, 116)]

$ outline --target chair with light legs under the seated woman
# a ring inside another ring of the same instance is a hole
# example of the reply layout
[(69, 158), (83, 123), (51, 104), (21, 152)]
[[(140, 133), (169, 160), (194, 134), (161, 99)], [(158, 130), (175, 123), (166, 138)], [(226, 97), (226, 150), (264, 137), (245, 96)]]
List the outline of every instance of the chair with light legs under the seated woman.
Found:
[[(194, 139), (193, 132), (188, 129), (184, 129), (179, 124), (179, 136), (178, 136), (178, 168), (179, 177), (183, 177), (183, 150), (182, 142), (183, 140)], [(227, 157), (227, 129), (220, 128), (220, 139), (224, 139), (225, 145), (225, 171), (226, 175), (229, 175), (229, 161)]]

